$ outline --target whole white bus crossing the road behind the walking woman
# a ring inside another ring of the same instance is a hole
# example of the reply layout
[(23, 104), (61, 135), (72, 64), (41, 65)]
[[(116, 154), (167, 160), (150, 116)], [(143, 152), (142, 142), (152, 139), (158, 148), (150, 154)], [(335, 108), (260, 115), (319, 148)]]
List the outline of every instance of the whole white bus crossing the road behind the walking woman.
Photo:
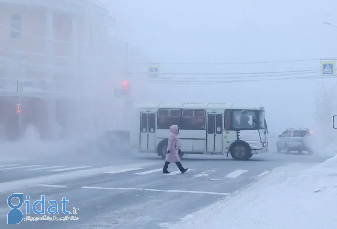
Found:
[(247, 160), (268, 152), (263, 107), (236, 107), (221, 103), (138, 105), (130, 131), (131, 146), (165, 158), (169, 127), (179, 126), (183, 154), (229, 155)]

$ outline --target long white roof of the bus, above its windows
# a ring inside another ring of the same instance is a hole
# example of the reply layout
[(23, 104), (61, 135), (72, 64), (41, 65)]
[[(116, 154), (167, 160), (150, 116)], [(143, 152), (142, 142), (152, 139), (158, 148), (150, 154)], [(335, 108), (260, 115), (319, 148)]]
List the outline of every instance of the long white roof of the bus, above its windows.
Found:
[(170, 103), (157, 103), (157, 104), (139, 104), (135, 106), (136, 108), (167, 108), (167, 109), (239, 109), (239, 110), (264, 110), (260, 106), (237, 106), (232, 103), (182, 103), (182, 104), (170, 104)]

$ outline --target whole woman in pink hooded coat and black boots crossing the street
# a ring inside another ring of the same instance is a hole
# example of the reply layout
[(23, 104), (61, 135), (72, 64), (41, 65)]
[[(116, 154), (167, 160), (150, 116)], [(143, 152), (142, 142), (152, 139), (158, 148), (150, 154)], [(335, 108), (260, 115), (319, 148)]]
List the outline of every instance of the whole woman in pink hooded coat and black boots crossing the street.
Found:
[(168, 151), (165, 157), (165, 164), (163, 167), (163, 173), (168, 174), (168, 167), (171, 162), (175, 162), (175, 164), (178, 166), (181, 173), (185, 173), (188, 169), (184, 169), (182, 167), (180, 162), (180, 140), (178, 137), (179, 134), (179, 127), (178, 125), (172, 125), (170, 126), (169, 130), (171, 133), (169, 134), (169, 142), (168, 142)]

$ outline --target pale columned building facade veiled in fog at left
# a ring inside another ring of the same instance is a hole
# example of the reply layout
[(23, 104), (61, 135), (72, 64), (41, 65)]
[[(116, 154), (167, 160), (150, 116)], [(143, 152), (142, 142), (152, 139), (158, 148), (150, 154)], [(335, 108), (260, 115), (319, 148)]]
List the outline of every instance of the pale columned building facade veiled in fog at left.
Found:
[(33, 125), (50, 139), (56, 129), (95, 122), (94, 107), (113, 97), (108, 86), (125, 74), (110, 63), (113, 24), (85, 0), (0, 0), (0, 138), (16, 139)]

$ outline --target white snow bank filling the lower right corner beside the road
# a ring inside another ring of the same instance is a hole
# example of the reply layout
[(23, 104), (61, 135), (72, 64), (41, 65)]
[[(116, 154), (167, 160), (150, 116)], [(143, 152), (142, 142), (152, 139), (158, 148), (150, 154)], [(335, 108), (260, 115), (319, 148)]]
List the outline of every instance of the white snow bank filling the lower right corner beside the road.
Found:
[(337, 155), (310, 169), (274, 171), (170, 229), (335, 229)]

